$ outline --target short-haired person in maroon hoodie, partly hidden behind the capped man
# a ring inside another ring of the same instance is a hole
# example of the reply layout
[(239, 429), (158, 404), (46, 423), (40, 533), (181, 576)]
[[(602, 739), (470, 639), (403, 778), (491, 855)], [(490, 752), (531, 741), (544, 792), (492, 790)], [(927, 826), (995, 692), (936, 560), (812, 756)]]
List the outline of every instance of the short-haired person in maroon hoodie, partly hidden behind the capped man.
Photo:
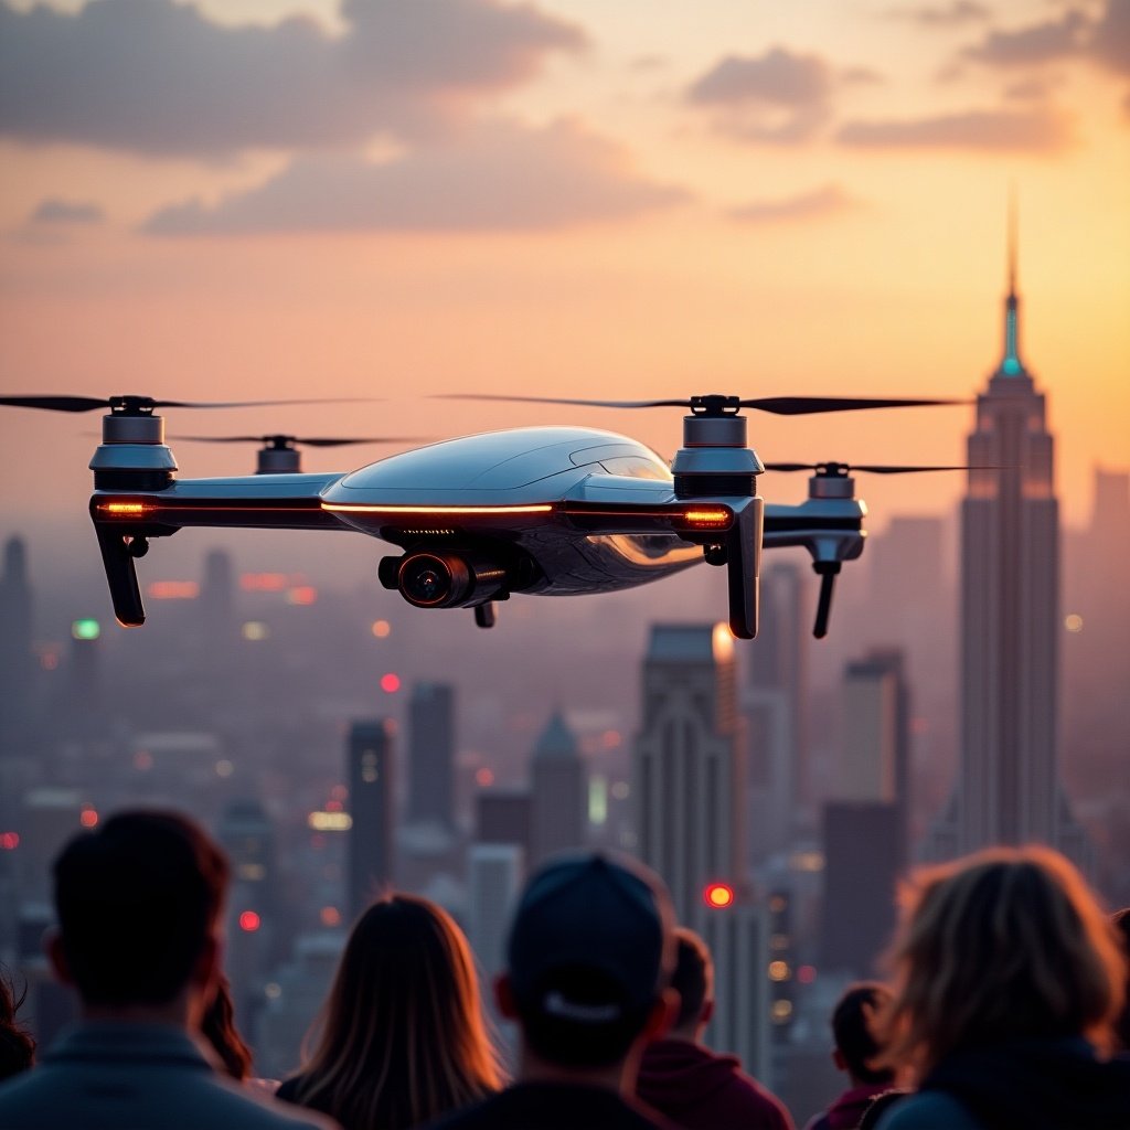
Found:
[(693, 930), (675, 931), (671, 988), (679, 1010), (670, 1033), (643, 1053), (636, 1093), (688, 1130), (792, 1130), (784, 1105), (741, 1070), (734, 1055), (702, 1043), (714, 1014), (714, 963)]

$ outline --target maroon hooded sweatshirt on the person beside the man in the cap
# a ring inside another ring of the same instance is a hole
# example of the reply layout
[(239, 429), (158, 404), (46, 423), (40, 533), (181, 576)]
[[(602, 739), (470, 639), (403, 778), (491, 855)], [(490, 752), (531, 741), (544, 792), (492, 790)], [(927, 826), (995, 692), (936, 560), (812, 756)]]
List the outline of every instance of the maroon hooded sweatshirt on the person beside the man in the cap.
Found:
[(687, 1130), (792, 1130), (780, 1099), (733, 1055), (715, 1055), (689, 1040), (649, 1044), (636, 1093)]

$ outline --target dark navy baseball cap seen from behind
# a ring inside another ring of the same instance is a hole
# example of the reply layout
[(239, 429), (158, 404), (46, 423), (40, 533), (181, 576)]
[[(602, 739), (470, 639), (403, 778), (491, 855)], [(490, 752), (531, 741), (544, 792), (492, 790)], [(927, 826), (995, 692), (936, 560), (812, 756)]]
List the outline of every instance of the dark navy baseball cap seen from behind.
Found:
[(551, 860), (527, 884), (511, 927), (510, 982), (523, 1019), (631, 1026), (668, 984), (673, 925), (662, 881), (634, 860)]

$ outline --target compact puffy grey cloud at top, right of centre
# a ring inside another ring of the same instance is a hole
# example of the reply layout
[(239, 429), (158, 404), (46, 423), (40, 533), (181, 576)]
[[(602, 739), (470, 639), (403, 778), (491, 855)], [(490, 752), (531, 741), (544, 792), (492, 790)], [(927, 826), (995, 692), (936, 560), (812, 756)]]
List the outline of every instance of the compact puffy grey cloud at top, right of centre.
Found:
[(831, 114), (835, 75), (817, 55), (773, 47), (757, 58), (728, 55), (687, 90), (715, 124), (745, 140), (807, 141)]

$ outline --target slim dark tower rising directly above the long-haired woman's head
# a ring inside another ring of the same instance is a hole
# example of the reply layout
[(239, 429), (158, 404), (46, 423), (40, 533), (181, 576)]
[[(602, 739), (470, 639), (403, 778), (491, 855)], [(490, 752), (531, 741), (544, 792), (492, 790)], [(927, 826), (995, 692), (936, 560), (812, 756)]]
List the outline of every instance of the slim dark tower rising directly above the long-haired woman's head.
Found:
[(392, 738), (388, 722), (354, 722), (347, 750), (349, 815), (346, 904), (356, 918), (393, 876)]

